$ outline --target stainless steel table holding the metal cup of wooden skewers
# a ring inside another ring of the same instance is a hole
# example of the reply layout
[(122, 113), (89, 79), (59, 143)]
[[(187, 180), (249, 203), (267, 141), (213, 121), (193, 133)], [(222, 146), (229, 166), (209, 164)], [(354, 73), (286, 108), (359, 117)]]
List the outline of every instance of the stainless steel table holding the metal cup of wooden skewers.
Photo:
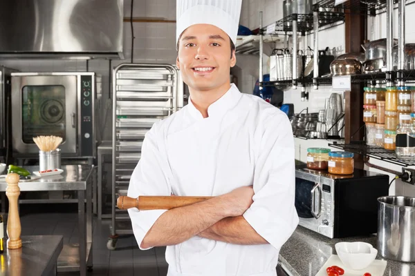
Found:
[[(24, 168), (30, 172), (39, 170), (39, 166), (24, 166)], [(62, 166), (64, 172), (61, 175), (19, 182), (21, 191), (77, 191), (80, 243), (64, 245), (57, 261), (58, 272), (80, 271), (80, 275), (84, 276), (86, 268), (92, 268), (92, 175), (94, 169), (95, 167), (90, 165), (66, 165)], [(0, 192), (6, 191), (6, 188), (7, 184), (0, 182)]]

